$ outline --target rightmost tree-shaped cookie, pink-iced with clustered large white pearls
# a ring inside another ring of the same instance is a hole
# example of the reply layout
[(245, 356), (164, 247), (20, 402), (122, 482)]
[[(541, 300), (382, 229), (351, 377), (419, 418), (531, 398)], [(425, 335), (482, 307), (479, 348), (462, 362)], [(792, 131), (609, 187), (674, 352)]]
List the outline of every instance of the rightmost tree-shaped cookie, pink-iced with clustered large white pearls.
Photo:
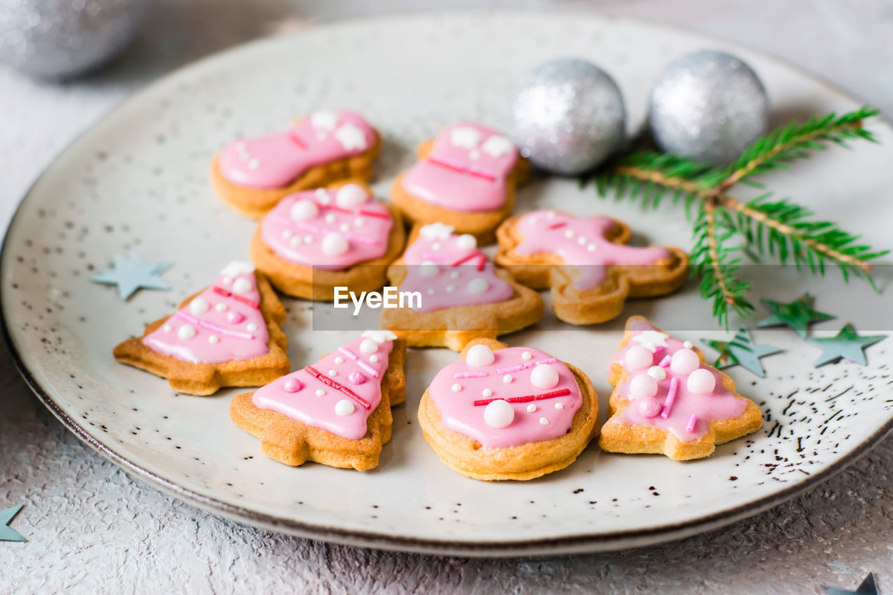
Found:
[(759, 407), (735, 391), (727, 374), (642, 316), (627, 321), (608, 375), (616, 388), (599, 444), (610, 452), (685, 461), (763, 425)]

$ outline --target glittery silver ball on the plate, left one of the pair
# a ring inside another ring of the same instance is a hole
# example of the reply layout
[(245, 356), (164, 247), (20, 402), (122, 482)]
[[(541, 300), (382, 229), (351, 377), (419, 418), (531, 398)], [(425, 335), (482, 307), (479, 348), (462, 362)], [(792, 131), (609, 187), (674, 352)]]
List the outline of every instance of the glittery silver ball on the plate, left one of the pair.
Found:
[(512, 115), (512, 137), (522, 155), (549, 172), (585, 172), (625, 138), (620, 88), (585, 60), (562, 58), (530, 71), (514, 98)]

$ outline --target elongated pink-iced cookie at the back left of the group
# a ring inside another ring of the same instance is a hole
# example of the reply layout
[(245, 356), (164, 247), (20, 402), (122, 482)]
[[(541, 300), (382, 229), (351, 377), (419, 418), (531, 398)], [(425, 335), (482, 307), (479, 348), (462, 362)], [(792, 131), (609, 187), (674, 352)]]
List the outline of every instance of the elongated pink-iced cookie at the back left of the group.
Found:
[(230, 143), (214, 158), (211, 178), (227, 204), (257, 218), (298, 190), (369, 180), (380, 147), (379, 134), (362, 116), (315, 112), (288, 130)]

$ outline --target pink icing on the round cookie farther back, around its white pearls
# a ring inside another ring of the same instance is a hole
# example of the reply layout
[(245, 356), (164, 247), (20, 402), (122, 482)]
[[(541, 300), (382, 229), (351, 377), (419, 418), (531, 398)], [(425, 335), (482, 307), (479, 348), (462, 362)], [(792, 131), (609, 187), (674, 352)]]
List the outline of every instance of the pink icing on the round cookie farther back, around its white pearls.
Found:
[[(336, 192), (305, 190), (282, 198), (261, 223), (263, 243), (288, 262), (329, 271), (340, 271), (383, 256), (388, 251), (388, 236), (394, 227), (388, 209), (374, 200), (349, 208), (338, 206)], [(299, 200), (312, 200), (319, 213), (311, 219), (296, 221), (290, 212)], [(335, 232), (345, 236), (347, 250), (344, 254), (327, 255), (322, 249), (322, 239)]]

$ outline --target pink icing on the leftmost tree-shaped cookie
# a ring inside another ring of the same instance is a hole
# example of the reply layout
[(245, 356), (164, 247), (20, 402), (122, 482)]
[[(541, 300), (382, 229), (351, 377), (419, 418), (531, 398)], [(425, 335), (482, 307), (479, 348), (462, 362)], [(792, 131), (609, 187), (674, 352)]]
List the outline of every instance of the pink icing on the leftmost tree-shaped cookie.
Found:
[[(143, 337), (143, 344), (165, 356), (193, 364), (220, 364), (266, 355), (270, 351), (267, 323), (258, 308), (246, 303), (259, 305), (261, 299), (255, 273), (249, 270), (248, 267), (235, 271), (224, 269), (212, 286)], [(198, 307), (203, 302), (208, 306), (206, 309)], [(225, 309), (219, 310), (219, 305)], [(239, 314), (238, 323), (231, 322), (232, 313)], [(181, 331), (184, 326), (191, 327), (195, 333), (186, 332), (188, 329)], [(214, 338), (216, 342), (212, 342)]]

